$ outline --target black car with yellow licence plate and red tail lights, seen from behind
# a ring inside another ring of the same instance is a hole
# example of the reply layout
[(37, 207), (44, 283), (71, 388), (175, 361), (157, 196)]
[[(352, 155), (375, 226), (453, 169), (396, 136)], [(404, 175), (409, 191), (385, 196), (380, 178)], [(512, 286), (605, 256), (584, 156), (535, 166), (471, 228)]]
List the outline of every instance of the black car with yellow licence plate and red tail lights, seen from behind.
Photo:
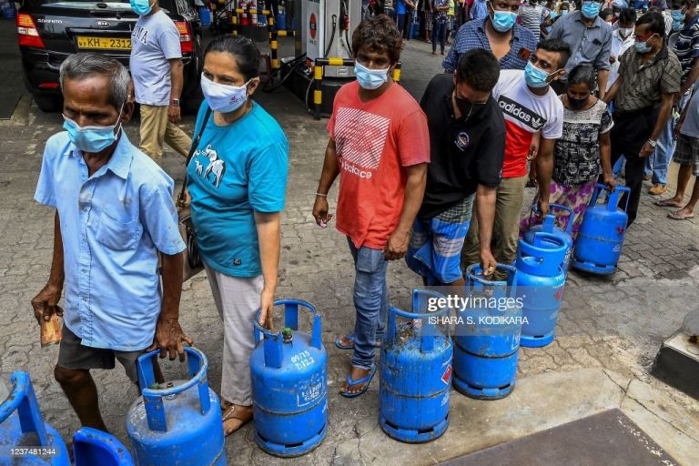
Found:
[[(201, 102), (203, 65), (199, 17), (189, 0), (159, 0), (159, 5), (179, 30), (185, 65), (181, 106), (194, 113)], [(99, 52), (128, 66), (137, 19), (128, 0), (24, 0), (17, 15), (17, 41), (25, 86), (36, 105), (45, 112), (63, 106), (58, 70), (69, 54)]]

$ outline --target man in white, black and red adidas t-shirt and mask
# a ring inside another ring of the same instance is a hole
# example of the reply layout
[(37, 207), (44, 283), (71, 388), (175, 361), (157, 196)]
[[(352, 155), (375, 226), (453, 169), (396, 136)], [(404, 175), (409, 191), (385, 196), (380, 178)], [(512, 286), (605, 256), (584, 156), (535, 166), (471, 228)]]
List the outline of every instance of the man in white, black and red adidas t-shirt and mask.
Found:
[[(542, 216), (549, 211), (549, 184), (553, 171), (553, 144), (562, 136), (563, 105), (551, 88), (552, 81), (565, 74), (571, 48), (559, 39), (542, 40), (521, 70), (502, 70), (492, 95), (505, 117), (505, 159), (502, 181), (497, 189), (491, 252), (499, 264), (512, 264), (517, 254), (518, 222), (524, 203), (532, 137), (541, 132), (536, 158), (539, 185), (538, 206)], [(471, 227), (463, 248), (465, 268), (480, 260), (478, 222)], [(496, 274), (504, 279), (504, 274)]]

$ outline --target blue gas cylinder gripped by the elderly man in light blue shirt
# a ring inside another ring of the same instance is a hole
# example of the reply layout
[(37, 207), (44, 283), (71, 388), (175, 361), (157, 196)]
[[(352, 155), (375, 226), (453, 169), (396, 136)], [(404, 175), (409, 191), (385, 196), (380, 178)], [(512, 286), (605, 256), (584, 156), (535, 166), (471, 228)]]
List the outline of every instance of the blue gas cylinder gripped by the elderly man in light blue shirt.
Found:
[(195, 348), (185, 351), (189, 379), (173, 380), (164, 390), (149, 388), (156, 383), (159, 350), (137, 360), (142, 396), (128, 410), (127, 434), (138, 466), (226, 464), (221, 405), (208, 388), (207, 357)]

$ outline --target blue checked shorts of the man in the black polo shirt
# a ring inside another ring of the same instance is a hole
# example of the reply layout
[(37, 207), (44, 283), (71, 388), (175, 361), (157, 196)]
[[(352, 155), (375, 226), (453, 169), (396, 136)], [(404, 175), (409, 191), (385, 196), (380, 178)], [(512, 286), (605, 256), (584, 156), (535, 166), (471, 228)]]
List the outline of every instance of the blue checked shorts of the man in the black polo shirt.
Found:
[(473, 198), (464, 198), (435, 218), (416, 218), (405, 261), (428, 285), (452, 283), (463, 277), (461, 249), (471, 224)]

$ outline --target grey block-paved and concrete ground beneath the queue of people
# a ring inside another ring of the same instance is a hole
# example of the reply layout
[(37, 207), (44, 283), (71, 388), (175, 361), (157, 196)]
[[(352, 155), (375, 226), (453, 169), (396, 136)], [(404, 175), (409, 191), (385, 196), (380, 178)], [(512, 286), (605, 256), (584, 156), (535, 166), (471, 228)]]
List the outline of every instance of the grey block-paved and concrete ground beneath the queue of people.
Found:
[[(402, 61), (402, 84), (419, 98), (429, 78), (441, 72), (441, 57), (412, 41)], [(648, 375), (662, 341), (697, 305), (697, 220), (666, 218), (667, 210), (654, 207), (644, 195), (619, 272), (611, 278), (571, 273), (557, 339), (547, 348), (522, 349), (512, 395), (478, 401), (452, 392), (450, 430), (438, 441), (405, 445), (378, 427), (379, 380), (359, 399), (337, 394), (350, 352), (336, 349), (332, 341), (349, 331), (354, 319), (353, 270), (345, 238), (333, 228), (318, 228), (310, 215), (327, 143), (326, 121), (313, 121), (283, 89), (256, 98), (289, 137), (278, 296), (308, 300), (323, 315), (330, 424), (328, 438), (317, 451), (288, 461), (260, 451), (249, 425), (228, 438), (229, 464), (434, 464), (612, 408), (623, 410), (680, 464), (699, 464), (699, 402)], [(0, 124), (0, 293), (5, 303), (0, 311), (0, 378), (12, 370), (29, 371), (46, 420), (67, 438), (79, 424), (53, 380), (57, 348), (40, 348), (29, 305), (46, 283), (53, 235), (53, 212), (32, 198), (46, 138), (60, 131), (61, 124), (59, 114), (46, 115), (35, 106)], [(183, 127), (191, 133), (192, 126), (192, 117), (186, 117)], [(127, 134), (137, 141), (135, 125), (127, 127)], [(167, 152), (164, 167), (176, 180), (181, 180), (182, 162)], [(336, 201), (335, 187), (329, 196), (331, 210)], [(406, 309), (410, 290), (420, 280), (396, 262), (390, 264), (389, 283), (392, 302)], [(203, 274), (184, 286), (181, 320), (207, 353), (209, 380), (218, 388), (222, 328)], [(178, 366), (166, 364), (167, 375), (181, 378)], [(136, 393), (118, 365), (116, 370), (95, 371), (95, 376), (106, 425), (127, 443), (124, 420)]]

